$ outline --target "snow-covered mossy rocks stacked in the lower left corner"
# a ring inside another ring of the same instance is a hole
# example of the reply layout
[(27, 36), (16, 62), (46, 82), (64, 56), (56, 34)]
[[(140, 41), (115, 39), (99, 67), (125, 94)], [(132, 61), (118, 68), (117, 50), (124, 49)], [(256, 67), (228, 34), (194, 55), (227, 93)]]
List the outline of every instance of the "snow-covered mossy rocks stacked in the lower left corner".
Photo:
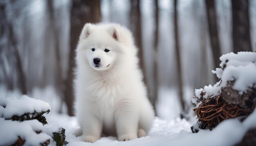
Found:
[(44, 113), (51, 107), (47, 102), (21, 97), (0, 97), (0, 146), (63, 145), (65, 129), (47, 125)]

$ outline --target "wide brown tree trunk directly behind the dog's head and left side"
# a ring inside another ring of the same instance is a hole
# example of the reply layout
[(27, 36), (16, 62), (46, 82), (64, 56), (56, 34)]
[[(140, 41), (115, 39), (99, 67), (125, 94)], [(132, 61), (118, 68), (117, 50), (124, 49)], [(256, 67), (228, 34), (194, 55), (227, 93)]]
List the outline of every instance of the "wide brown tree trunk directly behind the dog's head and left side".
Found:
[(65, 102), (68, 108), (68, 114), (74, 115), (73, 113), (73, 80), (74, 80), (74, 56), (75, 49), (79, 39), (79, 35), (85, 23), (100, 22), (100, 0), (73, 0), (70, 18), (70, 55), (69, 55), (69, 69), (66, 80), (66, 90), (65, 90)]

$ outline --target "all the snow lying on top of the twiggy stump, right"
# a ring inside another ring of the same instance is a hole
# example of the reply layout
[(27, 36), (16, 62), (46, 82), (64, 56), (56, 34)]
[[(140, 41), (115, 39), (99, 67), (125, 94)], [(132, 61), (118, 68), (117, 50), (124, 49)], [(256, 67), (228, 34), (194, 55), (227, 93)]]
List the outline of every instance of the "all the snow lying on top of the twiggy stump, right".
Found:
[(212, 71), (220, 81), (213, 86), (195, 89), (192, 103), (196, 107), (202, 103), (200, 99), (216, 97), (231, 82), (232, 88), (240, 94), (256, 88), (256, 52), (227, 53), (220, 57), (220, 61), (220, 68)]

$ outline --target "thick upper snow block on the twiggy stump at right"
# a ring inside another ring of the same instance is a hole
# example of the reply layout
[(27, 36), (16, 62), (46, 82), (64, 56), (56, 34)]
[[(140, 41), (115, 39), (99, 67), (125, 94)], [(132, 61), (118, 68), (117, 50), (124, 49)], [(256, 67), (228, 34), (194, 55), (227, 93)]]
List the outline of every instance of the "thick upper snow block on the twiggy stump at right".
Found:
[(243, 93), (256, 83), (256, 52), (227, 53), (220, 60), (221, 68), (212, 72), (222, 80), (222, 87), (234, 81), (232, 88)]

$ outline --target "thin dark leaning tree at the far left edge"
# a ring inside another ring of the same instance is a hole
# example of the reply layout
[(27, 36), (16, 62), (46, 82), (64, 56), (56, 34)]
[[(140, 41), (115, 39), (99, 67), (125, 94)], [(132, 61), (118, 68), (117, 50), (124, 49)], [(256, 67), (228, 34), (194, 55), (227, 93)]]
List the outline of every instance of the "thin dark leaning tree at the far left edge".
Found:
[[(6, 6), (4, 3), (0, 4), (1, 21), (5, 22), (5, 24), (2, 24), (1, 28), (5, 27), (8, 31), (8, 42), (7, 42), (6, 47), (8, 49), (10, 49), (13, 57), (15, 58), (15, 67), (16, 67), (16, 71), (17, 71), (20, 91), (22, 94), (27, 94), (26, 76), (25, 76), (25, 73), (23, 70), (23, 64), (22, 64), (22, 60), (20, 58), (20, 53), (18, 51), (16, 35), (13, 32), (13, 25), (7, 19), (5, 7)], [(10, 80), (8, 80), (8, 81), (11, 82)]]

